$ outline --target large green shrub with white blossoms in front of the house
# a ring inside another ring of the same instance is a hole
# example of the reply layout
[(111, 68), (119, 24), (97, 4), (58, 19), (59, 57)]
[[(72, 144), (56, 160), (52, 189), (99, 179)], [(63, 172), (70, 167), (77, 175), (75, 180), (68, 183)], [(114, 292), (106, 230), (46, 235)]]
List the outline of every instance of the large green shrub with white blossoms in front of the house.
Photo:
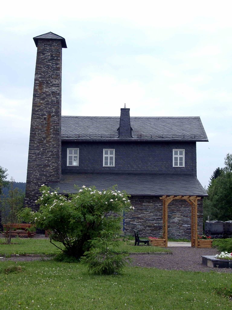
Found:
[[(59, 241), (68, 256), (80, 257), (90, 249), (90, 241), (100, 237), (102, 230), (118, 234), (123, 211), (132, 210), (129, 195), (115, 187), (98, 191), (82, 186), (68, 197), (41, 186), (38, 212), (31, 212), (37, 227), (51, 230), (50, 241)], [(27, 210), (25, 210), (27, 212)]]

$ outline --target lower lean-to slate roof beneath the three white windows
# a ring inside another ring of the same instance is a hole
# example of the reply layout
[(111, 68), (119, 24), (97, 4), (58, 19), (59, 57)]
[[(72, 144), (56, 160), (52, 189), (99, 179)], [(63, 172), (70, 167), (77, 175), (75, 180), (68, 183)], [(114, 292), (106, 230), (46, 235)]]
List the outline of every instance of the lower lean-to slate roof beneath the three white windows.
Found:
[(118, 173), (70, 173), (63, 174), (61, 181), (49, 184), (59, 193), (76, 193), (83, 185), (96, 186), (98, 190), (118, 185), (118, 190), (125, 190), (131, 195), (163, 196), (163, 195), (197, 195), (208, 196), (204, 188), (193, 175), (171, 174), (118, 174)]

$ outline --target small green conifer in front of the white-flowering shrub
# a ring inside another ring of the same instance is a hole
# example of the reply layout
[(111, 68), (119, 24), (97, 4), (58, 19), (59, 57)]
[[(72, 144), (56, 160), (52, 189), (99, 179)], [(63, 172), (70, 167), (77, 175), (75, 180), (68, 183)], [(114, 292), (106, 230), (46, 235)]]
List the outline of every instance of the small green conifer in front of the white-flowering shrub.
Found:
[(84, 253), (81, 263), (87, 264), (89, 270), (96, 274), (110, 275), (120, 272), (129, 258), (126, 254), (117, 253), (119, 244), (113, 239), (113, 231), (101, 231), (101, 237), (91, 241), (91, 249)]

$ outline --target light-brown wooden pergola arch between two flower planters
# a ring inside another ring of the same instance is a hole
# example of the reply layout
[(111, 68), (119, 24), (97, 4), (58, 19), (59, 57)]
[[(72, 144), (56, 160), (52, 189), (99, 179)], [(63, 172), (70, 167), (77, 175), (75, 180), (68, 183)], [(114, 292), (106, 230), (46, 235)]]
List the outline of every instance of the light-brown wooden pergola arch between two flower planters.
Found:
[(197, 201), (201, 197), (197, 196), (162, 196), (163, 200), (163, 238), (165, 238), (165, 246), (168, 246), (168, 205), (171, 201), (181, 199), (186, 200), (191, 205), (191, 246), (197, 248)]

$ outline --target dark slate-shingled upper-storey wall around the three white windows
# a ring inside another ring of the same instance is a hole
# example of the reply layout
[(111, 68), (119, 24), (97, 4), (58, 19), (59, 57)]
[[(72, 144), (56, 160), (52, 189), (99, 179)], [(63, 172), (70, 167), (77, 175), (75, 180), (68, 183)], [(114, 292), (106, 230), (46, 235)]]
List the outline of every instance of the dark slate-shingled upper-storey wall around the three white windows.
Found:
[[(67, 148), (79, 148), (79, 166), (67, 166)], [(103, 148), (115, 149), (114, 167), (103, 167)], [(185, 167), (173, 167), (173, 148), (185, 149)], [(196, 175), (196, 143), (62, 141), (62, 174), (70, 172)]]

